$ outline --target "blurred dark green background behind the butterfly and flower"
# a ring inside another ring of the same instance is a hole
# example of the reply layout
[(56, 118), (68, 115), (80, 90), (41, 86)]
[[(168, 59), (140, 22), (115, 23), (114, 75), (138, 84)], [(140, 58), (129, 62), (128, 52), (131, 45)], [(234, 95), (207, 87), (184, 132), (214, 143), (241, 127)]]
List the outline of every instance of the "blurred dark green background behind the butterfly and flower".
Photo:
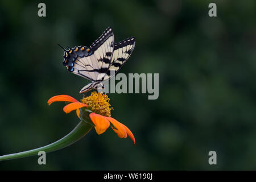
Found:
[[(46, 17), (38, 3), (46, 3)], [(208, 16), (210, 2), (217, 17)], [(135, 36), (121, 72), (159, 73), (159, 98), (109, 94), (112, 116), (136, 144), (108, 129), (63, 150), (0, 162), (2, 170), (256, 169), (256, 2), (0, 1), (0, 155), (55, 142), (79, 122), (57, 94), (88, 83), (62, 65), (64, 47), (90, 46), (106, 27)], [(217, 152), (217, 165), (208, 152)]]

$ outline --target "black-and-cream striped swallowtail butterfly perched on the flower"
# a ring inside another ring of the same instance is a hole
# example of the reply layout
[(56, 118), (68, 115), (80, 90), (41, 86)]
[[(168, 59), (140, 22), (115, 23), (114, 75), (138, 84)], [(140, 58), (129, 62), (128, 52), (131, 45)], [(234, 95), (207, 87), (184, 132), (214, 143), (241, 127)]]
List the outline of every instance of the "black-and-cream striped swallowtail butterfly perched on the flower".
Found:
[(80, 93), (88, 92), (98, 86), (103, 88), (103, 83), (110, 78), (110, 71), (116, 74), (134, 47), (134, 37), (114, 43), (113, 29), (108, 27), (90, 47), (76, 46), (68, 50), (61, 47), (64, 50), (63, 65), (68, 71), (92, 81), (80, 90)]

